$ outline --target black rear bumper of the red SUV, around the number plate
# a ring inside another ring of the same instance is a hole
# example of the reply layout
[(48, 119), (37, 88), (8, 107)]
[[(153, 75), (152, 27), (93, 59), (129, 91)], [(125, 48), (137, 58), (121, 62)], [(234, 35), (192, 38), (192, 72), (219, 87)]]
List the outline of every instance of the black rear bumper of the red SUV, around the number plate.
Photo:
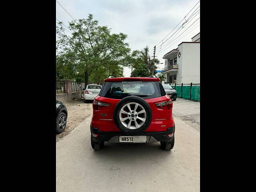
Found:
[[(175, 125), (173, 127), (167, 128), (164, 132), (143, 132), (140, 134), (125, 134), (123, 132), (101, 132), (98, 128), (93, 128), (90, 126), (91, 133), (99, 134), (97, 138), (92, 137), (94, 142), (108, 141), (108, 142), (119, 142), (119, 136), (147, 136), (147, 143), (165, 141), (172, 142), (174, 138)], [(166, 134), (173, 135), (169, 138)]]

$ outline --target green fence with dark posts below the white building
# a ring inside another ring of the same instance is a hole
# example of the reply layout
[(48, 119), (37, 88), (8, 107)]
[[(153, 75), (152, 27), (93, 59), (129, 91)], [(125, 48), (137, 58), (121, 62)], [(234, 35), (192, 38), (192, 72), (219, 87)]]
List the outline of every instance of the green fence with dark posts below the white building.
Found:
[(177, 91), (177, 97), (200, 101), (200, 84), (171, 84), (172, 88)]

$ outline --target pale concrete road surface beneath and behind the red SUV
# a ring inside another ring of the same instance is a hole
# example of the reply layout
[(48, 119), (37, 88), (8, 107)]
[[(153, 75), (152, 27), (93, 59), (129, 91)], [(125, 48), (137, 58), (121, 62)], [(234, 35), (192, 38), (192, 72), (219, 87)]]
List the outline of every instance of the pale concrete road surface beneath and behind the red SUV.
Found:
[(56, 192), (199, 192), (200, 132), (174, 117), (175, 146), (105, 143), (94, 151), (86, 118), (56, 143)]

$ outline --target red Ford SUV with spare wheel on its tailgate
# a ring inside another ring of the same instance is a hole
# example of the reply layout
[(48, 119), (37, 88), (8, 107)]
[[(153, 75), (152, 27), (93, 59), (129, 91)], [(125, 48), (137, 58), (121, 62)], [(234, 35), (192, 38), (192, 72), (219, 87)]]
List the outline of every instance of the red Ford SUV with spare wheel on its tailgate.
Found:
[(164, 150), (173, 148), (172, 100), (159, 78), (107, 78), (92, 106), (94, 150), (102, 149), (106, 141), (160, 142)]

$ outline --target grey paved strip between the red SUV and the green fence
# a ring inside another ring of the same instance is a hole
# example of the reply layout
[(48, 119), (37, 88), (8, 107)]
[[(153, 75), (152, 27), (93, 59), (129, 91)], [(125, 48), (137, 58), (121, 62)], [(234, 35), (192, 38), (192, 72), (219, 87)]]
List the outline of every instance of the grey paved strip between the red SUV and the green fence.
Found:
[(173, 101), (173, 114), (200, 131), (200, 102), (177, 98)]

